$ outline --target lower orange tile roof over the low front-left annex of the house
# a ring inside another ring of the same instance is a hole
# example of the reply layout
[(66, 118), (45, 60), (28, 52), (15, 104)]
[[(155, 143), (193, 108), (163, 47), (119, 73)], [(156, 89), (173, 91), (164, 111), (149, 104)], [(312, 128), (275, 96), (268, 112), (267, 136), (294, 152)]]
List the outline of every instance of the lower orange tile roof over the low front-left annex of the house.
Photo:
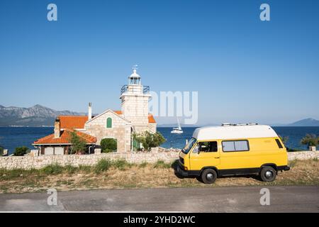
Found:
[(55, 138), (55, 134), (47, 135), (43, 138), (36, 140), (33, 144), (69, 144), (69, 139), (71, 138), (71, 132), (75, 131), (79, 137), (81, 137), (87, 144), (96, 143), (96, 138), (94, 136), (82, 133), (76, 130), (65, 129), (61, 131), (60, 138)]

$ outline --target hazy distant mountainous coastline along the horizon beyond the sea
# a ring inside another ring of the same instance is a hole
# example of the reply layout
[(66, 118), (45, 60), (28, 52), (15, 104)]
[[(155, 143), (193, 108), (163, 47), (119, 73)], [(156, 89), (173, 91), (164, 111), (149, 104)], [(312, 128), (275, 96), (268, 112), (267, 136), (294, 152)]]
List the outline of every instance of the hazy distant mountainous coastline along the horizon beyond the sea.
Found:
[[(0, 105), (0, 127), (50, 127), (59, 115), (83, 116), (86, 113), (75, 111), (56, 111), (41, 105), (28, 108)], [(211, 123), (210, 126), (220, 124)], [(158, 127), (175, 127), (175, 124), (159, 124)], [(206, 125), (182, 125), (182, 127), (201, 127)], [(273, 124), (272, 126), (305, 127), (319, 126), (319, 121), (314, 118), (306, 118), (289, 124)]]

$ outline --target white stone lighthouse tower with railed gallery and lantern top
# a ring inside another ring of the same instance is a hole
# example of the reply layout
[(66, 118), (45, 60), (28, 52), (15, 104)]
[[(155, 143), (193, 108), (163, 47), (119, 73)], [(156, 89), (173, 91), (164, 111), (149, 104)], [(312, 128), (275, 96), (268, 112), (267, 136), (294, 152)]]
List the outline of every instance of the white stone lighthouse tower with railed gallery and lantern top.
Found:
[(143, 86), (141, 77), (136, 72), (137, 65), (133, 66), (133, 73), (128, 77), (128, 85), (121, 89), (122, 114), (132, 123), (137, 133), (149, 129), (148, 101), (150, 100), (150, 87)]

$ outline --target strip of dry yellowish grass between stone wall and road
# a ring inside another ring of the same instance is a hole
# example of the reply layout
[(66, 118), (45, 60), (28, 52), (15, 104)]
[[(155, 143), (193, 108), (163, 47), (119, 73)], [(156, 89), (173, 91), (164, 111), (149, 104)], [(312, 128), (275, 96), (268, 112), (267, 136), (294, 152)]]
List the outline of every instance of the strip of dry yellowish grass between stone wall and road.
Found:
[[(245, 185), (319, 184), (319, 161), (298, 160), (290, 163), (291, 170), (279, 172), (276, 180), (264, 183), (255, 176), (222, 177), (215, 184), (206, 185), (194, 178), (180, 179), (169, 165), (143, 163), (142, 165), (111, 165), (106, 171), (96, 172), (92, 167), (64, 168), (55, 174), (39, 170), (0, 172), (0, 193), (41, 192), (49, 188), (60, 191), (86, 189), (124, 189), (155, 187), (227, 187)], [(50, 169), (51, 171), (51, 169)], [(50, 172), (49, 171), (49, 172)], [(21, 173), (22, 172), (22, 173)]]

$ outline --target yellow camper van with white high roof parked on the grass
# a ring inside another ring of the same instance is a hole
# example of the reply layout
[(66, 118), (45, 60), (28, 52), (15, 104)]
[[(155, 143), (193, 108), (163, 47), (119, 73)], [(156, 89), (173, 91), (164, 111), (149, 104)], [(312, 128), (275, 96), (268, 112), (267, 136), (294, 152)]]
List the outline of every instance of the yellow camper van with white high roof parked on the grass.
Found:
[(270, 126), (252, 123), (196, 128), (177, 167), (179, 175), (206, 184), (220, 176), (250, 174), (272, 182), (280, 170), (290, 170), (284, 144)]

